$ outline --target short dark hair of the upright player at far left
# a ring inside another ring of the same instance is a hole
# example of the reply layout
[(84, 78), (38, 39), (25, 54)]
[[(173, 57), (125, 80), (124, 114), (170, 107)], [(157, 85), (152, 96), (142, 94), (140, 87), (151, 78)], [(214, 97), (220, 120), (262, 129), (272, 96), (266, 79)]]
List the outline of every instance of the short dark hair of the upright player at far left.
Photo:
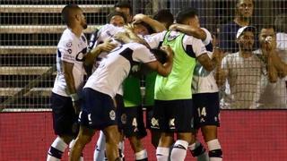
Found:
[(81, 10), (81, 8), (77, 4), (67, 4), (62, 10), (62, 20), (65, 22), (67, 26), (71, 25), (71, 22), (74, 21), (72, 19), (72, 15), (77, 10)]

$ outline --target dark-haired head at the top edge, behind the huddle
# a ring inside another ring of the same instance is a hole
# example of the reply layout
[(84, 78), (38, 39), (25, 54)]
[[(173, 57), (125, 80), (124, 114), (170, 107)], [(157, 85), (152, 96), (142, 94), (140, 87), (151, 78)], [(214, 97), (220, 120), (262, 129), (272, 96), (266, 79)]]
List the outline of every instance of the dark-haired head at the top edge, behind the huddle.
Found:
[(124, 13), (126, 15), (127, 23), (133, 21), (133, 7), (129, 1), (118, 1), (115, 4), (115, 11)]

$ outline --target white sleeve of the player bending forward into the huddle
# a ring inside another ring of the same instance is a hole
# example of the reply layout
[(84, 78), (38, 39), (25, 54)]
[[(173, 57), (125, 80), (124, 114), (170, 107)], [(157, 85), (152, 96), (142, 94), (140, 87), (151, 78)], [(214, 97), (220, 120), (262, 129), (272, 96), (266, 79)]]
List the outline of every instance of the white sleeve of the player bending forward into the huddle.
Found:
[(150, 63), (156, 61), (155, 56), (151, 53), (151, 51), (147, 48), (141, 45), (140, 47), (137, 47), (134, 51), (133, 59), (135, 62), (141, 62), (143, 64)]

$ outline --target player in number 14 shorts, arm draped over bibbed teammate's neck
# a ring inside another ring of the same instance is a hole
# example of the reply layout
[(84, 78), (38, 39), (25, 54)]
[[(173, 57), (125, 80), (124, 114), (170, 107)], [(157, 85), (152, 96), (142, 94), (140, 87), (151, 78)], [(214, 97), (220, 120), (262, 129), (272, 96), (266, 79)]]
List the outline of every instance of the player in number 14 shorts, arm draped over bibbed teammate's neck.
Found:
[[(192, 10), (190, 10), (192, 11)], [(173, 24), (170, 26), (171, 30), (179, 30), (187, 35), (200, 38), (206, 47), (207, 54), (213, 56), (213, 38), (211, 33), (200, 28), (196, 10), (193, 10), (194, 16), (191, 25), (186, 24)], [(216, 49), (216, 52), (220, 52)], [(189, 146), (194, 157), (197, 160), (222, 160), (222, 148), (219, 140), (217, 139), (217, 126), (219, 126), (219, 89), (216, 80), (213, 77), (213, 72), (207, 72), (204, 67), (196, 63), (193, 83), (193, 102), (195, 106), (195, 128), (196, 132), (200, 128), (204, 141), (207, 143), (209, 149), (209, 158), (203, 145), (196, 140), (195, 143)], [(195, 133), (196, 136), (196, 133)]]

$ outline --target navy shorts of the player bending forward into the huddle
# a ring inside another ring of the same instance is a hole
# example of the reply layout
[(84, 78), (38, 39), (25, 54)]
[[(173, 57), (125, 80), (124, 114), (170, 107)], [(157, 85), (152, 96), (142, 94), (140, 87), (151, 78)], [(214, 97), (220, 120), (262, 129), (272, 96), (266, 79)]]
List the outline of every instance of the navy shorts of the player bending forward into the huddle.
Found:
[(83, 109), (79, 115), (79, 122), (94, 130), (104, 130), (110, 125), (117, 125), (113, 99), (97, 90), (83, 89)]

